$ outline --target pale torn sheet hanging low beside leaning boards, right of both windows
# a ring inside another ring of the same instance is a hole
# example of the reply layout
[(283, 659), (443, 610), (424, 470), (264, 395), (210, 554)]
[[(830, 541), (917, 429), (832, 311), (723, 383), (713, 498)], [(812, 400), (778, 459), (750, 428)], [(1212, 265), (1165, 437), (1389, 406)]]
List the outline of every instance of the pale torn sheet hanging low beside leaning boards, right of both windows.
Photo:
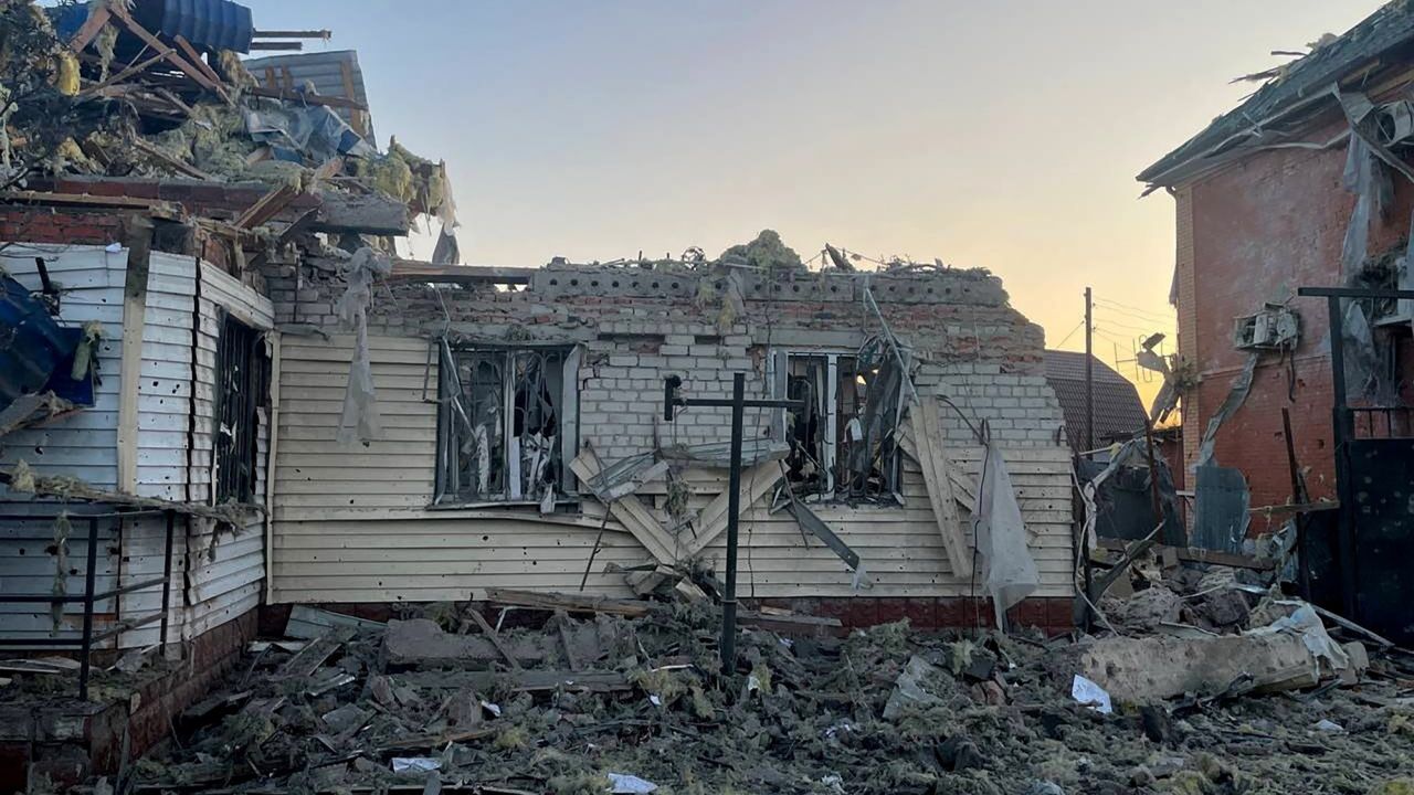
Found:
[(977, 492), (977, 550), (981, 553), (983, 586), (991, 594), (997, 627), (1012, 605), (1041, 587), (1036, 562), (1027, 549), (1027, 525), (1011, 488), (1011, 475), (995, 444), (987, 443), (981, 487)]

